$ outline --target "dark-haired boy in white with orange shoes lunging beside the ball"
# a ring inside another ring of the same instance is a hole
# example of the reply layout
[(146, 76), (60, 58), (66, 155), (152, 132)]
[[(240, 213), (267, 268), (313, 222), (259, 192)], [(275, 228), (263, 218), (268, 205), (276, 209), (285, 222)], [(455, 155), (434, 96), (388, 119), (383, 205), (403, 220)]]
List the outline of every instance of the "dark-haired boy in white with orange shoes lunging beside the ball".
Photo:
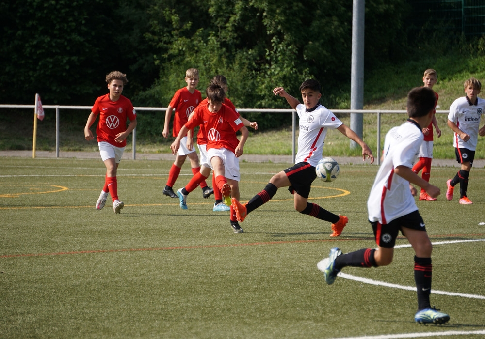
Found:
[(304, 81), (300, 86), (304, 104), (288, 94), (282, 87), (276, 87), (273, 90), (275, 95), (284, 97), (300, 117), (296, 164), (274, 175), (268, 185), (246, 204), (241, 204), (237, 199), (232, 198), (232, 206), (236, 211), (238, 221), (243, 221), (247, 214), (273, 198), (278, 188), (289, 187), (290, 193), (293, 194), (295, 210), (331, 222), (333, 230), (331, 237), (339, 236), (342, 233), (345, 224), (349, 221), (346, 216), (333, 214), (315, 203), (308, 202), (311, 183), (317, 177), (315, 166), (323, 157), (323, 140), (327, 130), (329, 128), (338, 129), (347, 138), (358, 143), (362, 147), (364, 161), (367, 156), (367, 159), (371, 159), (372, 164), (374, 157), (369, 146), (353, 130), (320, 104), (322, 97), (320, 88), (320, 83), (316, 80)]

